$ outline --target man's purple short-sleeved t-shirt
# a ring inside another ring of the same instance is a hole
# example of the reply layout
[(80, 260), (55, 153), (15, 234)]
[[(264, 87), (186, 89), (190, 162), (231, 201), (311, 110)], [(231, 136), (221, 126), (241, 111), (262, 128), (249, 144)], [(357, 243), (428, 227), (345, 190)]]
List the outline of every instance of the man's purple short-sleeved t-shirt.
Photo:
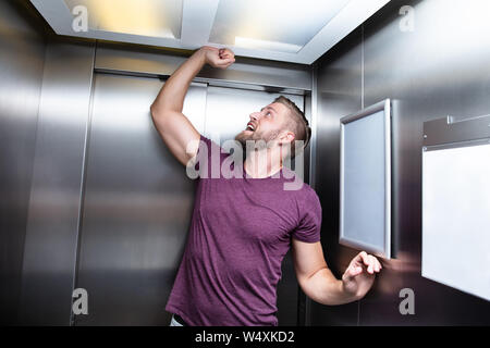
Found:
[[(213, 152), (222, 164), (231, 154), (221, 150), (201, 135), (196, 169), (211, 163)], [(211, 174), (210, 165), (207, 171)], [(246, 177), (245, 171), (242, 177), (199, 176), (187, 244), (167, 311), (189, 325), (278, 325), (277, 285), (291, 238), (320, 240), (318, 196), (303, 182), (299, 189), (285, 190), (283, 184), (294, 181), (292, 173), (283, 167), (280, 178)]]

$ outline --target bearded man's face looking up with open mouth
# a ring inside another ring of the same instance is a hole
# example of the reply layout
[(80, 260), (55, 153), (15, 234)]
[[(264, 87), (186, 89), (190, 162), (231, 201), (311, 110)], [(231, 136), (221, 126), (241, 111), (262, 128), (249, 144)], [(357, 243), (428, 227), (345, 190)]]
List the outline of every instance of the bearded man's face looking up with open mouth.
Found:
[(246, 128), (235, 136), (235, 140), (246, 147), (247, 140), (264, 140), (268, 147), (274, 146), (274, 141), (285, 132), (284, 125), (287, 117), (287, 107), (273, 102), (250, 114), (250, 121)]

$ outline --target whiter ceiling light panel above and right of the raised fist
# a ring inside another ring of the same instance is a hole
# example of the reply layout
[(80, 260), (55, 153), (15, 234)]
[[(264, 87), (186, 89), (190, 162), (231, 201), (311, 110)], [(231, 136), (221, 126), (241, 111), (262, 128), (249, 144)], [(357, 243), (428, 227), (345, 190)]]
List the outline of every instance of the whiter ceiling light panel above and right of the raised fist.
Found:
[(209, 42), (297, 53), (350, 0), (220, 0)]

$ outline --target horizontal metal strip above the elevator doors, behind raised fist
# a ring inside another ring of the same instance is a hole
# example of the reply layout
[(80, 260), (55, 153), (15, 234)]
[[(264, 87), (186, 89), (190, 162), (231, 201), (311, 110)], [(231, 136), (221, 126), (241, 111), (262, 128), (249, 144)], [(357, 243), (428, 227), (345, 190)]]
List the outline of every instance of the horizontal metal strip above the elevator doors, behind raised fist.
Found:
[[(143, 46), (101, 42), (97, 47), (96, 69), (136, 72), (170, 76), (191, 54), (191, 51), (161, 50)], [(250, 87), (311, 89), (311, 73), (308, 65), (266, 61), (237, 57), (226, 70), (206, 65), (196, 82), (241, 83)]]

